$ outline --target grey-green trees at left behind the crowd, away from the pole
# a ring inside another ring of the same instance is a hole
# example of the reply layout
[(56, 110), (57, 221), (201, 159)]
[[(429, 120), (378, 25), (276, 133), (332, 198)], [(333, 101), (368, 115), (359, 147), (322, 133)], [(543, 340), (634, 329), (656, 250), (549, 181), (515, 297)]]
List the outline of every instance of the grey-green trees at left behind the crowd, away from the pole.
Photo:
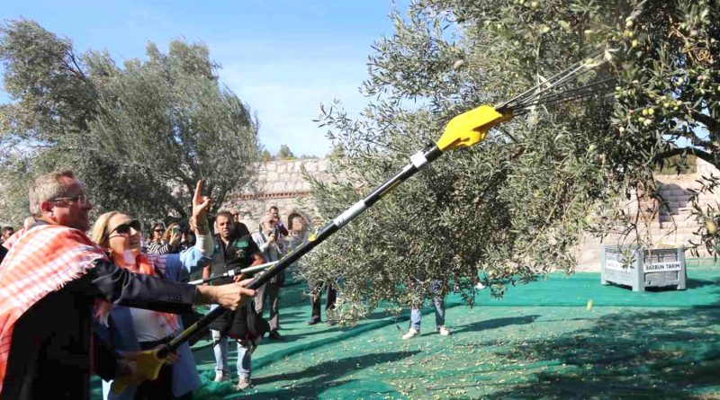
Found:
[(137, 218), (187, 217), (198, 179), (216, 207), (248, 182), (259, 159), (257, 118), (218, 81), (207, 46), (173, 40), (163, 53), (118, 65), (107, 51), (77, 54), (36, 22), (0, 27), (2, 210), (27, 214), (28, 182), (75, 170), (96, 209)]

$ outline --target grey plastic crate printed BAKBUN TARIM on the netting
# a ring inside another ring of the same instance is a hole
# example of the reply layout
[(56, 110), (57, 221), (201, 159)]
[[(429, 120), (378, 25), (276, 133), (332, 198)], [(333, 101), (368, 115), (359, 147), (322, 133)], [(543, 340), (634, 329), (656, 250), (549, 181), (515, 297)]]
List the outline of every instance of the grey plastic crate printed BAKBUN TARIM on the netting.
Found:
[[(630, 252), (630, 264), (626, 255)], [(643, 249), (618, 245), (603, 245), (600, 250), (600, 283), (629, 286), (633, 291), (645, 288), (674, 286), (684, 290), (688, 279), (685, 270), (685, 249), (672, 247)]]

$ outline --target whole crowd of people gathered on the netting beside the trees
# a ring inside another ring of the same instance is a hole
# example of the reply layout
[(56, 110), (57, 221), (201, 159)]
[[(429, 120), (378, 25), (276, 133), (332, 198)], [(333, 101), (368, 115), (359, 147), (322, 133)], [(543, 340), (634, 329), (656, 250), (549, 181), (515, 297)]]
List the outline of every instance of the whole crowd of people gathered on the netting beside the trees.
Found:
[[(198, 182), (189, 220), (157, 221), (146, 240), (139, 221), (121, 210), (103, 213), (91, 227), (88, 189), (72, 172), (32, 183), (31, 217), (17, 232), (2, 228), (0, 398), (89, 398), (93, 373), (103, 378), (106, 400), (193, 398), (201, 380), (188, 343), (166, 357), (156, 379), (112, 390), (113, 379), (137, 372), (140, 351), (166, 346), (184, 330), (183, 316), (193, 314), (193, 304), (225, 309), (210, 325), (214, 380), (235, 375), (238, 390), (251, 386), (252, 353), (262, 338), (284, 340), (285, 276), (251, 290), (250, 275), (229, 272), (277, 262), (288, 250), (289, 232), (275, 206), (255, 232), (239, 221), (237, 209), (217, 212), (211, 228), (212, 199), (201, 193)], [(186, 283), (193, 271), (207, 284)], [(321, 289), (327, 289), (326, 312), (338, 293), (329, 284), (309, 284), (307, 324), (318, 324)], [(449, 334), (439, 287), (434, 290), (438, 332)], [(420, 316), (414, 307), (404, 339), (419, 334)], [(229, 342), (237, 343), (234, 374)]]

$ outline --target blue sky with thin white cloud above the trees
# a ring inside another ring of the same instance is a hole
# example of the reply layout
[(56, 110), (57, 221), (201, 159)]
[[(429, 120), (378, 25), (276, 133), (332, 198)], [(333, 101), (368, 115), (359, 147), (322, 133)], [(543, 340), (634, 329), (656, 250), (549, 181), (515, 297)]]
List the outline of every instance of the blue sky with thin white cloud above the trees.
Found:
[[(401, 9), (407, 1), (396, 2)], [(206, 43), (220, 82), (257, 111), (272, 153), (325, 156), (325, 129), (312, 122), (334, 98), (356, 113), (370, 46), (392, 33), (391, 0), (57, 1), (2, 0), (0, 20), (25, 17), (73, 40), (78, 52), (107, 49), (143, 58), (148, 41)], [(0, 102), (9, 99), (0, 92)]]

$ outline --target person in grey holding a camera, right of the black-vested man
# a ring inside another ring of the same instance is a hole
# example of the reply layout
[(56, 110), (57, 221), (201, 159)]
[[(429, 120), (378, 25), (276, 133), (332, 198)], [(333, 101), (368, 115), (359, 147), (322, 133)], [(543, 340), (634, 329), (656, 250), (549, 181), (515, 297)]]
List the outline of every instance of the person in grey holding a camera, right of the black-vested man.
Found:
[[(260, 220), (260, 230), (253, 234), (253, 240), (263, 253), (266, 262), (275, 262), (283, 256), (283, 239), (278, 233), (275, 225), (275, 218), (266, 215)], [(257, 289), (257, 297), (255, 299), (255, 310), (257, 314), (263, 315), (265, 301), (270, 303), (270, 339), (283, 340), (283, 336), (277, 332), (280, 328), (280, 314), (278, 308), (280, 306), (280, 288), (285, 283), (285, 272), (282, 271), (273, 279), (269, 280), (265, 285)]]

